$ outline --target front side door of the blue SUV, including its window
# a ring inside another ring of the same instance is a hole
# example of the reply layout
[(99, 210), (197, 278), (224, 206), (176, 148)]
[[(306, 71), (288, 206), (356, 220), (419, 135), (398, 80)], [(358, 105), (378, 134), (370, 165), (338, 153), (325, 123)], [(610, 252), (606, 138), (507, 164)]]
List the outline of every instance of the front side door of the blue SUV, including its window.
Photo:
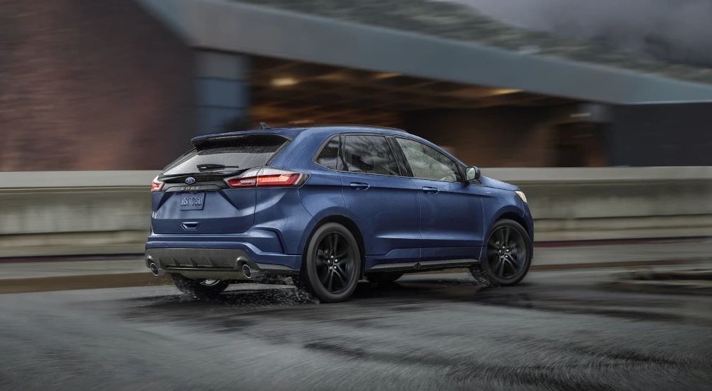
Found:
[(420, 141), (396, 143), (419, 189), (421, 257), (478, 258), (483, 240), (480, 186), (463, 180), (459, 164)]

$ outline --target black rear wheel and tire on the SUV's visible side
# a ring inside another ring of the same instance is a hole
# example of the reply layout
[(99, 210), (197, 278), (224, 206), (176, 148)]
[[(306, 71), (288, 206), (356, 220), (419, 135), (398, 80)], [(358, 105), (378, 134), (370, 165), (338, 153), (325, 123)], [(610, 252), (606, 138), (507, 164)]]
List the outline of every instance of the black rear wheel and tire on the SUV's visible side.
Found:
[(347, 300), (355, 291), (361, 273), (361, 254), (355, 237), (338, 223), (318, 227), (302, 259), (298, 286), (323, 303)]

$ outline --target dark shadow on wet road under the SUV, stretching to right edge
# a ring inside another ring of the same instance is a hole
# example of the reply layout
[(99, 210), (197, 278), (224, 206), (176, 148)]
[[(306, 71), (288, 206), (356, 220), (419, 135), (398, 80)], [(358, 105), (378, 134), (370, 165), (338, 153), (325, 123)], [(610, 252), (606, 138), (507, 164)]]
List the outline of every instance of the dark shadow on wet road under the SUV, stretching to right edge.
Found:
[[(622, 297), (624, 296), (624, 298)], [(657, 298), (659, 301), (660, 298)], [(550, 311), (566, 314), (595, 314), (629, 320), (654, 320), (703, 323), (708, 318), (669, 314), (656, 309), (655, 300), (641, 294), (622, 294), (580, 286), (547, 286), (523, 283), (506, 288), (487, 288), (473, 279), (453, 274), (431, 274), (387, 284), (360, 282), (349, 301), (319, 304), (311, 294), (291, 285), (237, 284), (211, 299), (197, 299), (186, 294), (142, 296), (122, 299), (123, 316), (141, 321), (177, 322), (216, 330), (250, 326), (256, 318), (300, 320), (352, 320), (354, 314), (372, 309), (414, 311), (437, 303), (475, 306), (504, 306), (515, 309)], [(439, 305), (439, 304), (438, 304)], [(675, 303), (666, 302), (666, 306)], [(288, 309), (288, 311), (284, 311)]]

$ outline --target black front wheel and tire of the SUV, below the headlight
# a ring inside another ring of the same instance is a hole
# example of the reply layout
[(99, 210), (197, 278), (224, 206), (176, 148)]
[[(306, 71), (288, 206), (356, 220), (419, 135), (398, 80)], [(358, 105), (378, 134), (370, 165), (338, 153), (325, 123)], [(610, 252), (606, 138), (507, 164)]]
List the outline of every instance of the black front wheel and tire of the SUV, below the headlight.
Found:
[(486, 242), (486, 256), (470, 267), (472, 277), (486, 286), (513, 286), (529, 272), (532, 242), (527, 231), (514, 220), (499, 220)]

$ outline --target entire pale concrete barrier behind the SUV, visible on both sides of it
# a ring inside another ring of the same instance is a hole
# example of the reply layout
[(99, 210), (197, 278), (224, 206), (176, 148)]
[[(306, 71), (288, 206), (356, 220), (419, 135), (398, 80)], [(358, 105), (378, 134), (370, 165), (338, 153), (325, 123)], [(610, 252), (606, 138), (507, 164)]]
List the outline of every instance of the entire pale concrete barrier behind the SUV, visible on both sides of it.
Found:
[[(483, 168), (528, 196), (536, 240), (712, 236), (712, 167)], [(0, 173), (0, 257), (137, 254), (157, 171)]]

